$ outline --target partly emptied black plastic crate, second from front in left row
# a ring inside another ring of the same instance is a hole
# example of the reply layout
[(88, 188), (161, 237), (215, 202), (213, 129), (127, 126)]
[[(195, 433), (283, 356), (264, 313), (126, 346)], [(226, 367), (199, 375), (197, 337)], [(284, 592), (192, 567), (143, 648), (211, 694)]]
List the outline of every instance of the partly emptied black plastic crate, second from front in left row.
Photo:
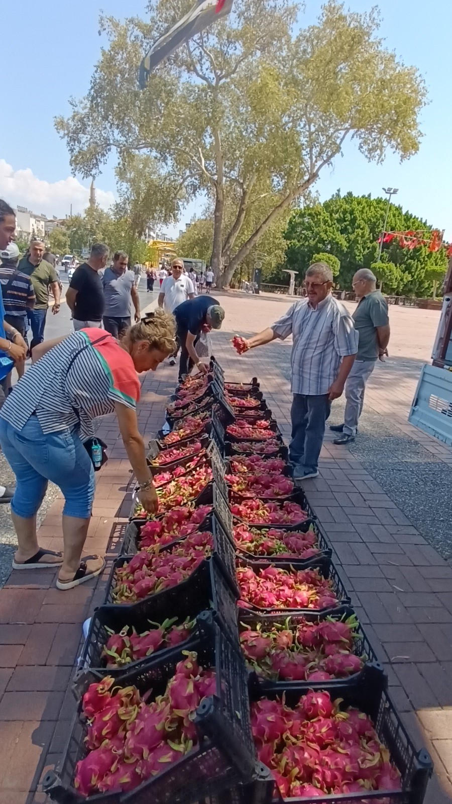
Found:
[[(76, 697), (80, 698), (90, 683), (99, 681), (105, 675), (112, 675), (116, 679), (124, 675), (125, 671), (160, 662), (175, 650), (174, 646), (161, 648), (125, 667), (107, 668), (101, 659), (105, 642), (109, 638), (107, 629), (119, 634), (125, 626), (133, 626), (138, 634), (142, 634), (149, 630), (150, 622), (161, 623), (173, 617), (178, 617), (179, 622), (185, 621), (187, 617), (189, 620), (196, 620), (201, 612), (210, 610), (214, 621), (238, 648), (236, 599), (237, 594), (224, 578), (216, 561), (204, 561), (183, 584), (166, 589), (165, 593), (152, 595), (129, 605), (101, 605), (92, 614), (88, 635), (78, 661), (74, 679)], [(199, 622), (205, 627), (205, 617)], [(199, 633), (199, 622), (196, 622), (190, 638), (178, 646), (180, 650), (191, 650), (191, 643)]]

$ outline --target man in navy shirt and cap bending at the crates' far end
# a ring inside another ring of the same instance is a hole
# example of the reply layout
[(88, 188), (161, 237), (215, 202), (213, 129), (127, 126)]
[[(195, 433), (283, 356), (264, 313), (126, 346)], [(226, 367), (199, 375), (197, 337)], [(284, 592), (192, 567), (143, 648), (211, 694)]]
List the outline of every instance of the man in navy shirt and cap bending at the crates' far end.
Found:
[(197, 366), (207, 374), (208, 367), (199, 362), (195, 346), (201, 331), (220, 330), (224, 320), (224, 310), (220, 302), (211, 297), (197, 296), (183, 301), (173, 312), (176, 319), (176, 337), (180, 346), (179, 383)]

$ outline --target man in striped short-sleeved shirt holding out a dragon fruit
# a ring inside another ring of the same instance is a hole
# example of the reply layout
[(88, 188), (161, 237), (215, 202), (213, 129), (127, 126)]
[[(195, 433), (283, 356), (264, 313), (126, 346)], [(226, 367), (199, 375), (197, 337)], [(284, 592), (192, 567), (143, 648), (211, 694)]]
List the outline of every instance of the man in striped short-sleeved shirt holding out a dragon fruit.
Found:
[(289, 457), (297, 481), (318, 475), (331, 402), (342, 395), (358, 349), (353, 319), (331, 295), (333, 274), (328, 265), (310, 265), (304, 284), (306, 299), (296, 301), (277, 322), (245, 342), (253, 349), (275, 338), (293, 337)]

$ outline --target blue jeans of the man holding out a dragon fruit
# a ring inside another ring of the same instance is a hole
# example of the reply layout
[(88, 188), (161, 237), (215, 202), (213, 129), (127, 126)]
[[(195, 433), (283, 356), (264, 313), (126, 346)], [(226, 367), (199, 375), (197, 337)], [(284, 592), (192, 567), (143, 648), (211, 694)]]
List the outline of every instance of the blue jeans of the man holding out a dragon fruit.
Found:
[(320, 396), (294, 394), (290, 408), (292, 440), (289, 445), (289, 457), (303, 473), (316, 472), (318, 469), (325, 422), (330, 411), (331, 400), (327, 394)]

